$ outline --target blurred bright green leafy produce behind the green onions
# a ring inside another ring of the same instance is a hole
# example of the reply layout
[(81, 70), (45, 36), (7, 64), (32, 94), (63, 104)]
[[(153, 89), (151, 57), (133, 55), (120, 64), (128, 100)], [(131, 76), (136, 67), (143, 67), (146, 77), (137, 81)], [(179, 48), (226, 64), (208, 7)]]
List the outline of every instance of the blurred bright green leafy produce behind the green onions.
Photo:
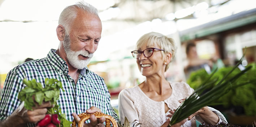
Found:
[[(250, 64), (248, 66), (252, 66), (252, 68), (247, 71), (244, 75), (239, 77), (234, 85), (238, 85), (244, 83), (247, 80), (255, 80), (256, 75), (256, 64)], [(220, 81), (233, 67), (224, 67), (219, 69), (213, 76), (212, 79), (218, 79)], [(240, 70), (236, 68), (227, 78), (230, 79), (234, 75), (238, 74)], [(191, 88), (198, 88), (199, 84), (203, 83), (205, 79), (207, 79), (209, 75), (204, 69), (195, 71), (191, 73), (190, 78), (187, 80), (187, 83), (191, 86)], [(217, 81), (217, 82), (218, 82)], [(216, 84), (214, 84), (216, 85)], [(244, 86), (240, 86), (237, 89), (228, 91), (227, 94), (220, 97), (215, 103), (221, 103), (225, 108), (229, 108), (232, 106), (242, 106), (244, 108), (245, 114), (248, 116), (256, 115), (256, 84), (249, 83)], [(213, 87), (213, 86), (212, 86)]]

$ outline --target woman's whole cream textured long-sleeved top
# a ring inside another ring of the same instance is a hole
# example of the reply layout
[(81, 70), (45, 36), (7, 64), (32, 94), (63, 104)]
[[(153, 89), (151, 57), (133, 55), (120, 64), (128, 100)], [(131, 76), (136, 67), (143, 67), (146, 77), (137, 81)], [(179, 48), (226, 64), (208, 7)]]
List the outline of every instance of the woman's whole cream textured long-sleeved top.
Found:
[[(169, 109), (177, 109), (180, 105), (178, 100), (186, 98), (194, 92), (194, 89), (184, 82), (170, 83), (170, 86), (173, 89), (172, 94), (161, 102), (156, 102), (147, 97), (139, 86), (123, 89), (118, 96), (121, 123), (124, 123), (126, 116), (130, 123), (135, 119), (139, 120), (139, 123), (142, 123), (140, 127), (160, 127), (164, 124), (168, 118), (166, 115), (169, 113), (165, 113), (165, 103)], [(220, 117), (221, 113), (216, 114)], [(224, 116), (222, 115), (221, 117)], [(196, 127), (195, 117), (187, 121), (183, 126)]]

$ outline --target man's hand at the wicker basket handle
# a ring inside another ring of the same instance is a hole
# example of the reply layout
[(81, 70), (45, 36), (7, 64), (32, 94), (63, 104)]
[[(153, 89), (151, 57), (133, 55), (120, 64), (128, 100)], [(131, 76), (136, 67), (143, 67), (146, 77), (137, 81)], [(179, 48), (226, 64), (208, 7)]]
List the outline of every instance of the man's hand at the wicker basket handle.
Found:
[[(91, 108), (86, 110), (86, 113), (88, 114), (92, 114), (95, 112), (101, 112), (101, 110), (97, 107), (92, 106)], [(80, 118), (77, 116), (76, 113), (72, 113), (72, 116), (75, 119), (75, 122), (78, 123), (80, 121)], [(103, 124), (105, 122), (105, 118), (101, 117), (101, 118), (96, 118), (94, 115), (90, 116), (90, 123), (84, 123), (83, 126), (84, 127), (104, 127), (105, 125)]]

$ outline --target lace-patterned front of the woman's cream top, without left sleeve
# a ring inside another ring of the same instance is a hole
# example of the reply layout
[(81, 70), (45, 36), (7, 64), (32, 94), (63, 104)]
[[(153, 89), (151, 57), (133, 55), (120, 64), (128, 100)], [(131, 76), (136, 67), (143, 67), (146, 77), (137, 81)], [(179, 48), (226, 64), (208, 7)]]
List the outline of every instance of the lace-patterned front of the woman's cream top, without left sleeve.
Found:
[[(160, 127), (167, 120), (164, 105), (167, 104), (169, 109), (177, 109), (180, 105), (178, 100), (188, 97), (193, 90), (188, 84), (181, 83), (170, 83), (173, 93), (164, 101), (156, 102), (147, 97), (146, 94), (135, 86), (134, 88), (127, 89), (133, 93), (134, 107), (136, 108), (139, 116), (139, 122), (142, 123), (140, 127)], [(187, 121), (182, 127), (196, 127), (195, 118)]]

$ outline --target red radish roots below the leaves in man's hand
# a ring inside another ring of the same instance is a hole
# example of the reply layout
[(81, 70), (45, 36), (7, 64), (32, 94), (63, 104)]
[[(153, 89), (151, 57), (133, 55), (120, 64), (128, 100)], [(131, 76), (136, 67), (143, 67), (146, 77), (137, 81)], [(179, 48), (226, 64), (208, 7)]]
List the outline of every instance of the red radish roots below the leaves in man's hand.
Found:
[(57, 114), (46, 114), (45, 117), (37, 123), (37, 127), (60, 127), (60, 121)]

